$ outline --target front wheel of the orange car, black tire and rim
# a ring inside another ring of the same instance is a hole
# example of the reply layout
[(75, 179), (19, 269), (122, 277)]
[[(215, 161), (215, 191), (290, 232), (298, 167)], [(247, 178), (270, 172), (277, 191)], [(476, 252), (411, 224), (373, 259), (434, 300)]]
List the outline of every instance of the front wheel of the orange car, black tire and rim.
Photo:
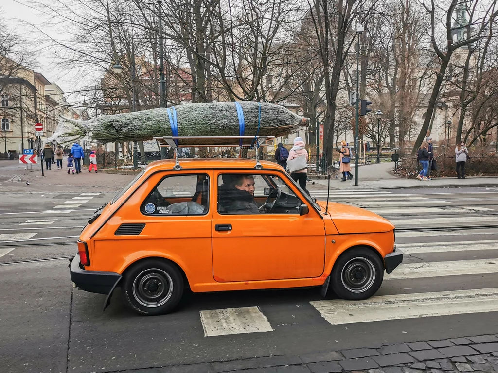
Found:
[(361, 300), (377, 292), (384, 278), (384, 265), (372, 250), (353, 248), (343, 253), (331, 274), (332, 290), (343, 299)]

